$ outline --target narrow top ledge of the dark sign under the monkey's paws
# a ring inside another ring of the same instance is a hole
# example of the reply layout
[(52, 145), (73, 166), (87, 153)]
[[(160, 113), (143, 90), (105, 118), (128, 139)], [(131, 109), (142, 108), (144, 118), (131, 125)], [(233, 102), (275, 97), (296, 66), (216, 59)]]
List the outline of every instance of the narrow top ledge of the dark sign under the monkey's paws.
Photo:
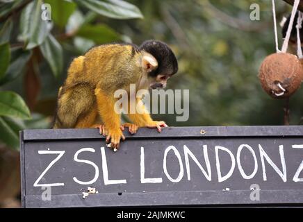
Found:
[[(22, 134), (23, 133), (23, 134)], [(90, 129), (42, 129), (23, 130), (26, 140), (45, 139), (99, 139), (96, 128)], [(190, 137), (300, 137), (303, 136), (303, 126), (195, 126), (195, 127), (167, 127), (162, 132), (153, 128), (140, 128), (135, 135), (124, 130), (126, 138), (190, 138)]]

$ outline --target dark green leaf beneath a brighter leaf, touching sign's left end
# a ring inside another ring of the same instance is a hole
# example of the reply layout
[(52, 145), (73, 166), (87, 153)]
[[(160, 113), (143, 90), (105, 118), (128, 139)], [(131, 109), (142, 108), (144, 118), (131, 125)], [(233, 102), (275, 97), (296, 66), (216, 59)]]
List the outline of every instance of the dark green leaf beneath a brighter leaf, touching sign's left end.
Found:
[(0, 140), (7, 146), (19, 149), (19, 130), (23, 129), (22, 121), (0, 117)]

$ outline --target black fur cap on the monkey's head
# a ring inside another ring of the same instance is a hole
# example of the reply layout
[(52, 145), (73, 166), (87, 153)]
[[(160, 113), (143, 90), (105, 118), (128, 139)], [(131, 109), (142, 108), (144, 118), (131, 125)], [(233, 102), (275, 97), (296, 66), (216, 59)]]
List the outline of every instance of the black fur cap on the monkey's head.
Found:
[(151, 73), (151, 76), (174, 75), (178, 71), (176, 56), (167, 44), (156, 40), (147, 40), (140, 45), (140, 50), (150, 53), (158, 62), (158, 68)]

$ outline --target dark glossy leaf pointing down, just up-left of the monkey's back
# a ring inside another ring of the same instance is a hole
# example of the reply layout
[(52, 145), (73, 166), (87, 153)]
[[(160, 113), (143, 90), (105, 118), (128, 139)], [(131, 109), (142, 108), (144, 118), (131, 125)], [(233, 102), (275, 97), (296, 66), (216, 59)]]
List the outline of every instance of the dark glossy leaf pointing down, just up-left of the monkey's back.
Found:
[(53, 35), (49, 35), (40, 46), (42, 55), (47, 59), (51, 71), (58, 77), (63, 71), (63, 49)]

